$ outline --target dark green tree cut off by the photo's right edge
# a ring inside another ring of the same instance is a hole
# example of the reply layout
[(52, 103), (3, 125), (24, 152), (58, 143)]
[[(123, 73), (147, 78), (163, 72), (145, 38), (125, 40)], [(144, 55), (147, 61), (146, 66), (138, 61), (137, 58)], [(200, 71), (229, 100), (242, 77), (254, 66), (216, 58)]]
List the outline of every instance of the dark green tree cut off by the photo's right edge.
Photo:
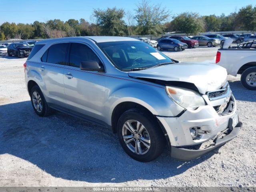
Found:
[(256, 6), (242, 7), (236, 15), (236, 21), (243, 30), (256, 31)]

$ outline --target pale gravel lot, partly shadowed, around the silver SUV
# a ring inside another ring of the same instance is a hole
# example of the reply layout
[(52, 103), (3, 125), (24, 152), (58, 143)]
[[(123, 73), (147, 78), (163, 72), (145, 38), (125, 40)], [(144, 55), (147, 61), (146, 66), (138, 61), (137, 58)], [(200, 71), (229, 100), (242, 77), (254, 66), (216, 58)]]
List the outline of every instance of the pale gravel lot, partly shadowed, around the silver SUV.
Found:
[[(213, 57), (216, 50), (165, 53)], [(256, 92), (243, 88), (239, 76), (228, 77), (243, 123), (236, 138), (196, 160), (174, 160), (166, 149), (141, 163), (105, 128), (61, 112), (37, 116), (24, 83), (25, 61), (0, 57), (0, 186), (256, 186)]]

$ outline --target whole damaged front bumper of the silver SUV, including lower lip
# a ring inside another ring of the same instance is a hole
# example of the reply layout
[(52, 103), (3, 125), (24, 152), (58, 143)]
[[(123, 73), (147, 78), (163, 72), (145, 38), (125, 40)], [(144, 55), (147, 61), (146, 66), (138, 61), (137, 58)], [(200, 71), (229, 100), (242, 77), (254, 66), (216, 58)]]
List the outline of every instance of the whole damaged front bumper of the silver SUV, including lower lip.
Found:
[[(213, 104), (216, 100), (208, 102)], [(191, 160), (219, 148), (240, 130), (236, 101), (231, 93), (226, 110), (221, 113), (207, 105), (186, 110), (179, 117), (157, 118), (170, 141), (171, 156), (179, 160)], [(196, 138), (192, 137), (191, 128), (197, 130)]]

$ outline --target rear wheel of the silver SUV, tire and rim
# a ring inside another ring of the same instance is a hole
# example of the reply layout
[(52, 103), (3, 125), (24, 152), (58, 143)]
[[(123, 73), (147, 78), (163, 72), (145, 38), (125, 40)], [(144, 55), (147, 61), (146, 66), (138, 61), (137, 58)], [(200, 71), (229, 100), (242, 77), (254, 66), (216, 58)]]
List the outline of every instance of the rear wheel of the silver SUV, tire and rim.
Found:
[(37, 85), (33, 86), (30, 90), (30, 98), (32, 107), (39, 116), (48, 116), (52, 112), (52, 109), (49, 108), (42, 91)]

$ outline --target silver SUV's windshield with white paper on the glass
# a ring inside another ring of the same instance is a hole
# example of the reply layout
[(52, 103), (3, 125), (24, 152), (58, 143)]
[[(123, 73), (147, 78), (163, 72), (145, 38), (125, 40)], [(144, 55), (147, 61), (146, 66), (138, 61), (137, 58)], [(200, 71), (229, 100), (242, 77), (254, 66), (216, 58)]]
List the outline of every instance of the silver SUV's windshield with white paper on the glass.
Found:
[(120, 70), (150, 68), (173, 61), (141, 41), (118, 41), (98, 43), (100, 49)]

